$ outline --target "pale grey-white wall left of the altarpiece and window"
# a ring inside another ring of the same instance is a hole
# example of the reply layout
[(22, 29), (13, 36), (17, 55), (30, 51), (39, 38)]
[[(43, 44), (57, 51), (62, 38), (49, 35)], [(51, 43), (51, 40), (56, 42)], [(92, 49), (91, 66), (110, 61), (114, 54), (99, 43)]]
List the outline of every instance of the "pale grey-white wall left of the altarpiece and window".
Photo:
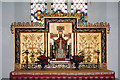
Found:
[(30, 3), (2, 3), (2, 78), (9, 78), (14, 70), (14, 35), (11, 34), (12, 22), (30, 22)]

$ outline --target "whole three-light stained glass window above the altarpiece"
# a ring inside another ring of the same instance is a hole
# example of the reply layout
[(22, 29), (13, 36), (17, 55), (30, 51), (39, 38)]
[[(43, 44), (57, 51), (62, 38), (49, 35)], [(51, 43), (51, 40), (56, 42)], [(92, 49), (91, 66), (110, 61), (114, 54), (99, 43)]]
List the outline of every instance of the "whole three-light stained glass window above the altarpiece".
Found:
[(47, 10), (50, 11), (50, 9), (51, 13), (80, 13), (78, 23), (87, 22), (87, 0), (71, 0), (71, 5), (70, 3), (68, 4), (68, 0), (51, 1), (48, 1), (48, 4), (51, 3), (51, 7), (48, 5), (49, 7), (47, 9), (47, 0), (31, 0), (31, 22), (39, 22), (43, 24), (43, 17), (47, 15)]

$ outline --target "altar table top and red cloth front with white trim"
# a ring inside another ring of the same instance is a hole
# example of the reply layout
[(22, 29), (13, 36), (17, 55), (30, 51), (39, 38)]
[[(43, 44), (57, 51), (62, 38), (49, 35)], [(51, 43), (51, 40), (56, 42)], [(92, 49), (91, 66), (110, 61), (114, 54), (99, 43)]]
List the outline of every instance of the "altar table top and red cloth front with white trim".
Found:
[(101, 69), (17, 70), (10, 80), (115, 80), (115, 72)]

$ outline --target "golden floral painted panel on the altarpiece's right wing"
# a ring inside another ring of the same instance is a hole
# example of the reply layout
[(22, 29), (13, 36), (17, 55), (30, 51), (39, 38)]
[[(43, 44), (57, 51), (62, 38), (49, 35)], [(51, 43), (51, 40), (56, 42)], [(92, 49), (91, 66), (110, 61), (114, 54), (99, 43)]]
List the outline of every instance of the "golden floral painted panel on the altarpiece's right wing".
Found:
[[(99, 50), (100, 54), (95, 52)], [(77, 52), (84, 51), (84, 63), (97, 64), (97, 59), (101, 63), (101, 33), (78, 33), (77, 34)]]

